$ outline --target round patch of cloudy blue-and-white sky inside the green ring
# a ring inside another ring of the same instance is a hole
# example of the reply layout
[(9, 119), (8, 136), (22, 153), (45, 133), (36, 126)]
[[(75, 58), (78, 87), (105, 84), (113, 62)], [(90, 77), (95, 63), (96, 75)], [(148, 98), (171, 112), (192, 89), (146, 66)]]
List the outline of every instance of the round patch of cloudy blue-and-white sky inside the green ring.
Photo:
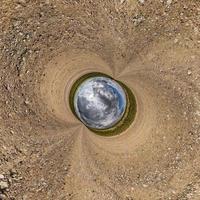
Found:
[(113, 79), (97, 76), (83, 81), (74, 96), (79, 119), (95, 129), (111, 128), (123, 117), (126, 94)]

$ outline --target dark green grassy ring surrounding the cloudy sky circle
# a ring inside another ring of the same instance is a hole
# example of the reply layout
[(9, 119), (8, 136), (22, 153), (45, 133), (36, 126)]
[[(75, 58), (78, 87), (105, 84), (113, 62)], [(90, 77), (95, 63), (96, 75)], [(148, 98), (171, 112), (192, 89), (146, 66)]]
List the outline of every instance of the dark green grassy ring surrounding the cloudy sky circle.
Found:
[[(71, 91), (70, 91), (70, 95), (69, 95), (69, 105), (70, 105), (70, 108), (71, 108), (73, 114), (77, 117), (77, 119), (79, 119), (79, 118), (76, 115), (75, 108), (74, 108), (74, 96), (75, 96), (76, 90), (80, 86), (80, 84), (82, 84), (86, 79), (92, 78), (95, 76), (104, 76), (104, 77), (113, 79), (112, 77), (110, 77), (106, 74), (103, 74), (100, 72), (92, 72), (92, 73), (88, 73), (88, 74), (81, 76), (73, 84)], [(118, 135), (118, 134), (122, 133), (123, 131), (125, 131), (135, 119), (135, 115), (136, 115), (136, 111), (137, 111), (135, 96), (133, 95), (132, 91), (124, 83), (122, 83), (118, 80), (115, 80), (115, 81), (117, 81), (121, 85), (121, 87), (124, 89), (124, 91), (126, 93), (126, 98), (127, 98), (126, 110), (124, 112), (122, 119), (111, 128), (99, 130), (99, 129), (94, 129), (94, 128), (88, 127), (88, 129), (90, 129), (92, 132), (94, 132), (98, 135), (101, 135), (101, 136)]]

